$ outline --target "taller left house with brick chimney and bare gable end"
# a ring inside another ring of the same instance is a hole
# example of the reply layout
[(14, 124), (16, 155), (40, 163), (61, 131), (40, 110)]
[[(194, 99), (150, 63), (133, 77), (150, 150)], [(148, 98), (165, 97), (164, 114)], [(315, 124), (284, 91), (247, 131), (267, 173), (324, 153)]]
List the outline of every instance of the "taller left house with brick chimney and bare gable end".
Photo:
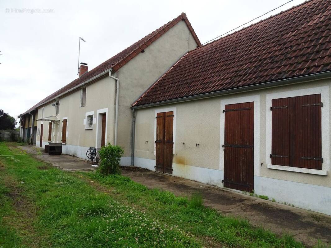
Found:
[(77, 79), (21, 115), (21, 137), (38, 147), (62, 143), (63, 153), (80, 158), (87, 158), (89, 147), (120, 145), (121, 163), (130, 165), (131, 103), (198, 46), (182, 13), (90, 71), (81, 63)]

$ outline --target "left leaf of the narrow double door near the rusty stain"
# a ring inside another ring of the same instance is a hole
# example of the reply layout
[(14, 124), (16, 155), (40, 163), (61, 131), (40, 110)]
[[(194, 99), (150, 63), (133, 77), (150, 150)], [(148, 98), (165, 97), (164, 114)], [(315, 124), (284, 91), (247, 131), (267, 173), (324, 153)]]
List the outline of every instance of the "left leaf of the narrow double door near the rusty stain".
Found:
[(157, 113), (156, 116), (156, 171), (164, 172), (164, 125), (165, 125), (165, 115), (166, 113)]

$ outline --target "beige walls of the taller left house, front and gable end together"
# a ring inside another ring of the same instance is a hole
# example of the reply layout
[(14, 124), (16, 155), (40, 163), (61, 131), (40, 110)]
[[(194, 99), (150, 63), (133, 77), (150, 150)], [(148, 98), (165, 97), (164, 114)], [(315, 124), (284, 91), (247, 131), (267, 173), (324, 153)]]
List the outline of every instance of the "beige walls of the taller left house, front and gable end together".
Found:
[[(122, 164), (130, 164), (132, 110), (135, 101), (183, 54), (197, 47), (184, 21), (180, 21), (165, 34), (145, 48), (132, 60), (122, 66), (113, 76), (119, 79), (118, 138), (117, 145), (124, 149)], [(85, 87), (82, 86), (82, 88)], [(59, 101), (57, 117), (52, 122), (51, 142), (62, 142), (62, 121), (67, 119), (66, 143), (63, 153), (86, 158), (89, 147), (101, 146), (101, 114), (106, 113), (106, 142), (114, 144), (116, 80), (105, 75), (102, 79), (86, 86), (86, 104), (80, 106), (81, 89), (63, 96)], [(37, 119), (56, 115), (56, 100), (38, 107)], [(43, 113), (43, 114), (42, 114)], [(93, 127), (86, 128), (86, 116), (93, 115)], [(40, 128), (43, 123), (42, 147), (48, 142), (48, 121), (37, 122), (36, 146), (40, 146)]]

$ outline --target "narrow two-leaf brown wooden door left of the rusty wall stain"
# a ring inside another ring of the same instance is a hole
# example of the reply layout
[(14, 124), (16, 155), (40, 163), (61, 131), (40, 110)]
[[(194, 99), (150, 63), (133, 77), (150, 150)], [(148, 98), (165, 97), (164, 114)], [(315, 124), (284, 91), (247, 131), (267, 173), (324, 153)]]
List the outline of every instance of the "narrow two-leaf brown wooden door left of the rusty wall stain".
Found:
[(155, 170), (172, 174), (173, 111), (157, 113)]

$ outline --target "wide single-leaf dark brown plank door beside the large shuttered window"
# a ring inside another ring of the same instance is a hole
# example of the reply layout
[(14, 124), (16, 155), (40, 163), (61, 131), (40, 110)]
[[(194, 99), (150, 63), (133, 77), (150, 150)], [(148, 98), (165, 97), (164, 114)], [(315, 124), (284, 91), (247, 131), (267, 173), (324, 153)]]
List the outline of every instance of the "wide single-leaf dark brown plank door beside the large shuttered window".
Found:
[(254, 102), (225, 105), (224, 186), (254, 189)]

